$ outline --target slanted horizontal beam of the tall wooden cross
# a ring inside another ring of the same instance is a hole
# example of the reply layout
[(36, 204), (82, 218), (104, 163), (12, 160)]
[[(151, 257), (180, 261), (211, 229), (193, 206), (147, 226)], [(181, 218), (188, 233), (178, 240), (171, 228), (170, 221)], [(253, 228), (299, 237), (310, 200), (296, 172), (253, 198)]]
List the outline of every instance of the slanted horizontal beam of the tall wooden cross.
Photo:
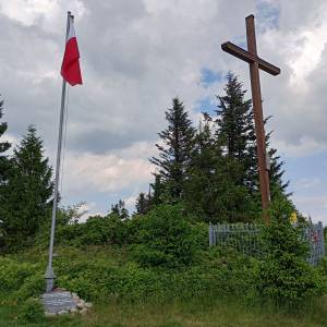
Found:
[(258, 68), (274, 76), (280, 74), (280, 69), (261, 58), (257, 56), (253, 56), (246, 50), (243, 50), (242, 48), (235, 46), (232, 43), (225, 43), (221, 45), (221, 49), (230, 55), (233, 55), (234, 57), (238, 57), (239, 59), (242, 59), (249, 63), (257, 62)]

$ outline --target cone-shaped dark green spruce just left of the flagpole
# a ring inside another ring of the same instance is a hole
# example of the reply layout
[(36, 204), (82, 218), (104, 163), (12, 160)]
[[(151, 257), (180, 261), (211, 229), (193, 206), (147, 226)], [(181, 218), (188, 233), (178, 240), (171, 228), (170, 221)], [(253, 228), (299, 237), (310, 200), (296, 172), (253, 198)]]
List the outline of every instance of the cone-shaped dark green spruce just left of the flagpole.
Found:
[(36, 135), (36, 129), (29, 126), (14, 149), (0, 203), (5, 247), (28, 243), (49, 220), (53, 190), (51, 177), (43, 142)]

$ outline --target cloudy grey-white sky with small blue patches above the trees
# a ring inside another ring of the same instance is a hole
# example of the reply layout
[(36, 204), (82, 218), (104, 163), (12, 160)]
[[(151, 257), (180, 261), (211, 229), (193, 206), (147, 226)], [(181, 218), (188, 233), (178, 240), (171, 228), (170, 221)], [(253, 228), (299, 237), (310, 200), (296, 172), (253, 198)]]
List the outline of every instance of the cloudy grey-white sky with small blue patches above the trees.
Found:
[[(293, 201), (327, 223), (327, 3), (325, 0), (0, 0), (0, 94), (7, 137), (33, 123), (56, 156), (59, 70), (66, 11), (75, 15), (84, 85), (70, 88), (61, 192), (106, 213), (133, 208), (147, 191), (164, 112), (180, 96), (192, 119), (215, 109), (232, 70), (249, 66), (220, 49), (245, 45), (254, 14), (258, 55), (281, 68), (261, 73), (272, 146), (286, 161)], [(250, 94), (249, 94), (250, 97)]]

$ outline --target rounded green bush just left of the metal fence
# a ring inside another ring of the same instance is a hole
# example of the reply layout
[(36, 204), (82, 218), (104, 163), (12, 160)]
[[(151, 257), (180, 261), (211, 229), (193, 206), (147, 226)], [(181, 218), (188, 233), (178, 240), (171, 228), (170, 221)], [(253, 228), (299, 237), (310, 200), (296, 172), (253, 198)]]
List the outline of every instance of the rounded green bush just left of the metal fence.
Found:
[(201, 249), (197, 231), (185, 220), (181, 206), (162, 205), (131, 220), (133, 258), (143, 266), (192, 265)]

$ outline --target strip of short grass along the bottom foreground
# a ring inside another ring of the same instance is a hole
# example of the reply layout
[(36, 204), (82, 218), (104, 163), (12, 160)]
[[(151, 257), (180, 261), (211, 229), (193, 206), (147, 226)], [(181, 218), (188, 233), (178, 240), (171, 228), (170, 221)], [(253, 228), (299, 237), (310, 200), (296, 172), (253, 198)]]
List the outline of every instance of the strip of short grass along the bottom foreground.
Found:
[[(315, 304), (316, 305), (316, 304)], [(318, 307), (319, 306), (319, 307)], [(242, 304), (219, 303), (204, 305), (170, 303), (161, 306), (150, 304), (98, 303), (86, 316), (60, 316), (46, 318), (44, 323), (26, 324), (16, 319), (16, 305), (0, 307), (1, 327), (318, 327), (327, 326), (324, 314), (327, 299), (314, 310), (293, 314), (246, 307)]]

